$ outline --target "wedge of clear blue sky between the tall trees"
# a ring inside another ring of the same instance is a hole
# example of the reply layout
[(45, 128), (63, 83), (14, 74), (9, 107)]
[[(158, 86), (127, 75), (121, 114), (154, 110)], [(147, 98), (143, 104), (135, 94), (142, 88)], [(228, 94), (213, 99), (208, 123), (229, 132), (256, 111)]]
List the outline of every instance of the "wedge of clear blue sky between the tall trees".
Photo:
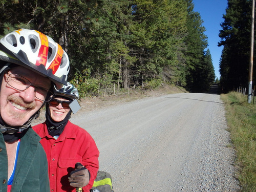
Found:
[(223, 14), (226, 14), (227, 0), (193, 0), (194, 11), (200, 13), (203, 26), (206, 28), (204, 33), (208, 37), (208, 49), (210, 50), (212, 64), (215, 69), (215, 76), (220, 79), (219, 62), (222, 47), (218, 47), (221, 40), (219, 31), (222, 29), (220, 24), (224, 22)]

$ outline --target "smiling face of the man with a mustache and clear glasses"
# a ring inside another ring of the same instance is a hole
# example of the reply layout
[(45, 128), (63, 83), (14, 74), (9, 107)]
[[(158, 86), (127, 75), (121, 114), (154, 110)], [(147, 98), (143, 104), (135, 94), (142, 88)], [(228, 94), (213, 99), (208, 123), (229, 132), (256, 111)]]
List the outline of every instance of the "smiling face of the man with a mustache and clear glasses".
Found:
[[(28, 70), (24, 67), (15, 67), (4, 75), (0, 92), (0, 113), (3, 120), (11, 126), (21, 126), (38, 111), (44, 101), (35, 97), (35, 87), (50, 89), (51, 81), (47, 77)], [(29, 80), (34, 86), (19, 91), (7, 84), (9, 74), (18, 74)], [(42, 98), (44, 99), (44, 97)]]

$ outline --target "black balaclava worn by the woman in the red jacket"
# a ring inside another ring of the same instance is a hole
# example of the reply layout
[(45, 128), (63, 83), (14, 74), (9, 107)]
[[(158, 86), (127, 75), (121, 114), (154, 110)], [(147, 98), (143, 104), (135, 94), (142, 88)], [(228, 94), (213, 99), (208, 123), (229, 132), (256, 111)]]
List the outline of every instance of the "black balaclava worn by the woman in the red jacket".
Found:
[[(70, 100), (67, 97), (62, 97), (62, 98)], [(56, 135), (60, 135), (63, 132), (66, 124), (68, 123), (68, 120), (71, 117), (71, 113), (72, 111), (70, 110), (69, 113), (66, 115), (66, 117), (62, 121), (56, 122), (51, 117), (49, 103), (47, 103), (46, 104), (46, 125), (47, 125), (49, 135), (51, 135), (52, 137)]]

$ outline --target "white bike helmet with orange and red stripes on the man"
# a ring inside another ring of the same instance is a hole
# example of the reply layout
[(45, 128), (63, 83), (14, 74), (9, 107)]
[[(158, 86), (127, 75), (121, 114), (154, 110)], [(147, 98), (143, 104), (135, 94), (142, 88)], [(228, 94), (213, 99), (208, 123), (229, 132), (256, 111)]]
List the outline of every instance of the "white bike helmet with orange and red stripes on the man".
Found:
[(0, 39), (0, 60), (35, 71), (59, 87), (67, 85), (70, 69), (67, 53), (51, 37), (39, 31), (20, 29), (4, 36)]

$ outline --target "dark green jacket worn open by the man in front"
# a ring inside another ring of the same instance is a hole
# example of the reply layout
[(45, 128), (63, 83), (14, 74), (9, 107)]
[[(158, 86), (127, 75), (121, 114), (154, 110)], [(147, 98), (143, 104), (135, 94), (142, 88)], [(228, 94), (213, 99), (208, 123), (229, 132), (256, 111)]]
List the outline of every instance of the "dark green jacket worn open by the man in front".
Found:
[[(19, 153), (11, 192), (49, 192), (48, 163), (40, 137), (30, 128), (20, 139)], [(8, 160), (0, 132), (0, 192), (7, 192)]]

